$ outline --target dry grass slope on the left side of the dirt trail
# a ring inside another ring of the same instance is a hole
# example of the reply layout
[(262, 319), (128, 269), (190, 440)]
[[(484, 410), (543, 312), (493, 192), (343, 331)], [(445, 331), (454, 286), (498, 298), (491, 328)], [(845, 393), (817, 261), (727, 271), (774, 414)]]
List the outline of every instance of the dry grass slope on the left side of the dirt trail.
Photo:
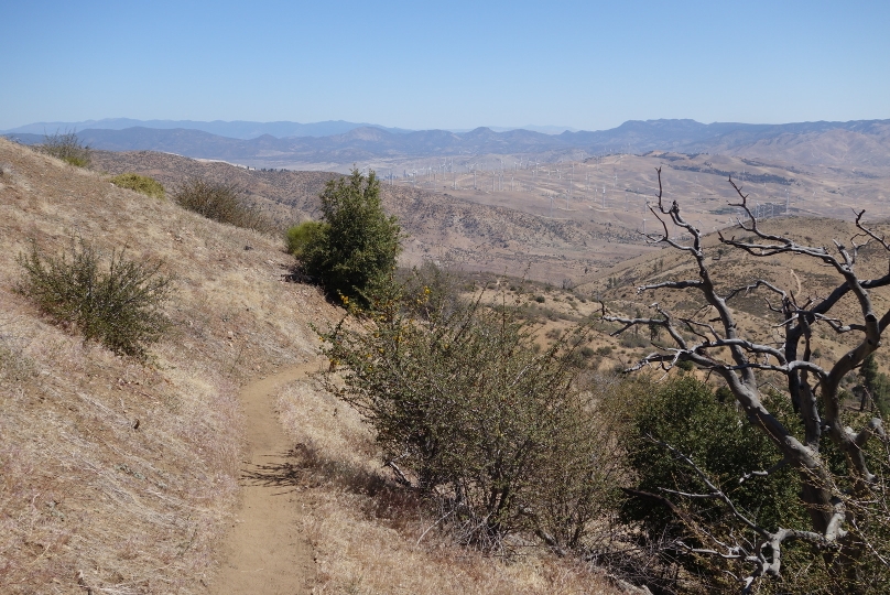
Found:
[[(0, 164), (0, 592), (204, 592), (237, 501), (237, 388), (310, 356), (307, 321), (336, 313), (283, 281), (276, 238), (4, 140)], [(73, 234), (177, 279), (174, 332), (150, 365), (85, 345), (13, 292), (31, 240), (54, 252)]]

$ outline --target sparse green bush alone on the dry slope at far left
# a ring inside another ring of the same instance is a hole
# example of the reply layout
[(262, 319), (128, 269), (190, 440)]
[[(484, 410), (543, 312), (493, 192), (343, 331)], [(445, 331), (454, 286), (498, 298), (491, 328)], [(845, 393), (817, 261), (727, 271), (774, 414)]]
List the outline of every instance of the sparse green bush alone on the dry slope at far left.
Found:
[(112, 251), (108, 270), (99, 255), (83, 240), (72, 241), (69, 253), (20, 255), (24, 279), (19, 291), (34, 300), (51, 318), (97, 340), (119, 355), (145, 359), (146, 347), (169, 327), (161, 312), (171, 291), (171, 278), (160, 273), (161, 262), (144, 264)]

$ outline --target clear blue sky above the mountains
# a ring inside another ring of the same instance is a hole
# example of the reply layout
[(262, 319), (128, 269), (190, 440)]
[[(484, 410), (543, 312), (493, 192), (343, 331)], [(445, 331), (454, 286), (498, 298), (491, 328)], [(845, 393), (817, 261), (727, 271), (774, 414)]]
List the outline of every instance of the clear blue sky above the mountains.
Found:
[(890, 118), (890, 2), (6, 0), (0, 129)]

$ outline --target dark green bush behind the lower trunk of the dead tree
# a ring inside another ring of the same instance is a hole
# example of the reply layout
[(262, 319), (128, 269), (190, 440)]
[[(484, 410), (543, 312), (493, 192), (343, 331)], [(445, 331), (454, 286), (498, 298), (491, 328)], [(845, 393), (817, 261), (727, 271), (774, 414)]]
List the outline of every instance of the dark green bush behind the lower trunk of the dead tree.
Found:
[[(737, 410), (734, 400), (721, 402), (709, 386), (688, 376), (650, 387), (648, 392), (650, 397), (633, 410), (632, 435), (627, 442), (637, 491), (622, 508), (626, 521), (639, 522), (652, 541), (681, 540), (693, 548), (709, 543), (702, 539), (701, 527), (707, 527), (717, 539), (729, 541), (729, 536), (734, 536), (737, 540), (756, 541), (751, 529), (740, 526), (720, 500), (677, 495), (709, 493), (703, 478), (681, 454), (721, 486), (735, 506), (753, 522), (786, 526), (807, 518), (797, 498), (801, 483), (791, 466), (778, 468), (766, 477), (749, 475), (772, 468), (778, 459), (770, 440), (746, 423), (744, 412)], [(769, 404), (783, 420), (793, 423), (793, 412), (784, 403), (781, 398), (772, 398)], [(800, 562), (801, 550), (806, 549), (806, 545), (785, 544), (783, 558), (789, 575), (793, 574), (795, 562)], [(737, 588), (735, 578), (727, 577), (728, 572), (737, 570), (730, 567), (731, 562), (702, 560), (676, 541), (662, 554), (665, 560), (679, 561), (701, 580), (713, 582), (712, 592)], [(703, 571), (705, 567), (707, 572)]]

